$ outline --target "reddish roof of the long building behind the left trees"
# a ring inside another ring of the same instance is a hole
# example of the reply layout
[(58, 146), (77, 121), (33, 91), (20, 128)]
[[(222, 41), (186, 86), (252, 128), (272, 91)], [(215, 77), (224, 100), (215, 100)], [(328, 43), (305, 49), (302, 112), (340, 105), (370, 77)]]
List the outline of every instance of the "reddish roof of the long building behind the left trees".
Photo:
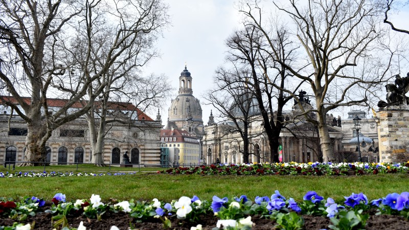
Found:
[[(31, 104), (31, 98), (29, 97), (21, 97), (22, 100), (24, 100), (27, 104)], [(18, 104), (17, 100), (14, 97), (10, 96), (0, 96), (0, 104), (3, 104), (3, 101), (8, 101), (11, 102), (15, 105)], [(65, 104), (67, 104), (69, 100), (67, 99), (57, 99), (57, 98), (48, 98), (47, 99), (47, 105), (49, 107), (63, 107)], [(87, 101), (82, 100), (79, 102), (75, 102), (71, 108), (82, 108), (83, 104), (87, 103)], [(100, 107), (101, 102), (100, 101), (95, 101), (94, 104), (97, 107)], [(143, 121), (153, 121), (152, 118), (146, 115), (142, 110), (134, 106), (132, 103), (129, 102), (114, 102), (110, 101), (107, 103), (108, 107), (113, 110), (121, 110), (121, 111), (136, 111), (138, 113), (138, 120), (143, 120)]]

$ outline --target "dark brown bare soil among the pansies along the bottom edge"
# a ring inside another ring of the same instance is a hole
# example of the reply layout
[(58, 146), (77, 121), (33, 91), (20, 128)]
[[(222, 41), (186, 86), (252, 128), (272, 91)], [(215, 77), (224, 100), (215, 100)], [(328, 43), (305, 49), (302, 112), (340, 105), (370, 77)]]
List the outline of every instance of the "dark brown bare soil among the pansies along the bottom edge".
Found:
[[(33, 223), (35, 225), (33, 229), (53, 229), (51, 225), (51, 214), (50, 213), (37, 213), (34, 217), (27, 218), (24, 223)], [(305, 224), (304, 229), (328, 229), (328, 225), (331, 224), (329, 218), (323, 216), (303, 216)], [(101, 229), (109, 230), (112, 225), (117, 226), (119, 229), (127, 230), (129, 226), (132, 226), (133, 229), (148, 230), (148, 229), (164, 229), (163, 224), (158, 219), (153, 219), (152, 222), (143, 222), (138, 223), (136, 219), (130, 217), (125, 213), (106, 213), (102, 216), (100, 221), (96, 219), (87, 219), (83, 216), (67, 217), (68, 223), (71, 227), (78, 227), (79, 223), (83, 221), (86, 229)], [(186, 220), (178, 220), (177, 218), (171, 218), (172, 222), (171, 229), (181, 229), (181, 230), (190, 230), (191, 226), (196, 226), (197, 224), (202, 224), (203, 229), (210, 230), (216, 227), (217, 219), (213, 215), (202, 216), (200, 222), (191, 223)], [(261, 219), (258, 217), (252, 217), (254, 230), (265, 230), (265, 229), (276, 229), (276, 223), (271, 220)], [(15, 222), (12, 219), (0, 219), (0, 226), (11, 226)], [(60, 229), (57, 228), (57, 229)], [(378, 229), (409, 229), (409, 221), (405, 220), (401, 216), (390, 216), (390, 215), (371, 215), (367, 221), (366, 229), (369, 230), (378, 230)]]

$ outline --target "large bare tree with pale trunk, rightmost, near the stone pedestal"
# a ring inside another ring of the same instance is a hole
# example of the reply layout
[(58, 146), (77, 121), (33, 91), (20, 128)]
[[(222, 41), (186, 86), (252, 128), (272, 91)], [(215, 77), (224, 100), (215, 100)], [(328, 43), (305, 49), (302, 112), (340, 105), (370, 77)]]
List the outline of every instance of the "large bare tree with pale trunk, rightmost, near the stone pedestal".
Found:
[[(304, 58), (304, 62), (298, 65), (280, 59), (257, 2), (247, 4), (249, 9), (242, 12), (249, 24), (264, 34), (271, 49), (270, 58), (309, 85), (316, 108), (306, 111), (301, 103), (298, 104), (306, 120), (318, 127), (324, 162), (331, 162), (335, 156), (325, 121), (327, 112), (339, 106), (365, 103), (371, 88), (381, 81), (389, 68), (388, 62), (381, 66), (372, 61), (376, 56), (373, 51), (377, 50), (377, 38), (382, 35), (380, 11), (367, 0), (309, 0), (305, 4), (288, 0), (288, 3), (287, 6), (274, 5), (291, 19), (292, 25), (289, 26), (293, 26), (292, 33), (297, 38), (294, 41), (302, 47), (300, 55)], [(306, 68), (300, 72), (294, 68), (299, 65)], [(375, 70), (382, 68), (380, 74), (375, 74)], [(342, 89), (336, 91), (335, 85), (342, 85)], [(307, 116), (311, 111), (317, 114), (316, 120)]]

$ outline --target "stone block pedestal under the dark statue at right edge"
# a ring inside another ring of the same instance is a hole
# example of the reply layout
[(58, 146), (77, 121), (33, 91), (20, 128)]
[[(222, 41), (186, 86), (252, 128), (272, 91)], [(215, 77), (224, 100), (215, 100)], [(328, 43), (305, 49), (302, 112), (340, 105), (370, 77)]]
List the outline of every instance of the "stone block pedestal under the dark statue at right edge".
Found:
[(379, 160), (405, 163), (409, 160), (409, 107), (388, 106), (376, 114)]

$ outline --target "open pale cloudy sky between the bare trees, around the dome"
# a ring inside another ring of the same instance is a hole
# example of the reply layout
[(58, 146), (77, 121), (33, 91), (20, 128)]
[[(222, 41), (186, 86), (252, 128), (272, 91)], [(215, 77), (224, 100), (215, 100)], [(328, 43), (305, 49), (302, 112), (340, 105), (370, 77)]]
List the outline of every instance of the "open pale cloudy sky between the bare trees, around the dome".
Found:
[[(271, 1), (264, 0), (264, 4)], [(214, 108), (203, 105), (202, 95), (212, 87), (213, 76), (218, 66), (224, 62), (226, 56), (225, 40), (237, 28), (241, 27), (241, 14), (232, 0), (168, 0), (171, 26), (163, 32), (163, 37), (157, 41), (160, 58), (152, 60), (146, 67), (145, 73), (165, 74), (174, 88), (173, 96), (165, 99), (165, 106), (160, 108), (162, 124), (166, 125), (168, 108), (171, 99), (177, 96), (179, 76), (185, 68), (192, 76), (193, 96), (200, 100), (203, 110), (203, 124), (207, 124), (210, 111), (217, 113)], [(395, 26), (408, 29), (408, 7), (400, 9), (399, 14), (391, 16)], [(402, 19), (404, 18), (404, 19)], [(407, 67), (409, 72), (409, 66)], [(351, 108), (345, 108), (345, 114)], [(370, 112), (370, 111), (369, 111)], [(371, 114), (371, 113), (369, 113)], [(152, 119), (155, 114), (149, 114)], [(216, 117), (216, 116), (215, 116)]]

